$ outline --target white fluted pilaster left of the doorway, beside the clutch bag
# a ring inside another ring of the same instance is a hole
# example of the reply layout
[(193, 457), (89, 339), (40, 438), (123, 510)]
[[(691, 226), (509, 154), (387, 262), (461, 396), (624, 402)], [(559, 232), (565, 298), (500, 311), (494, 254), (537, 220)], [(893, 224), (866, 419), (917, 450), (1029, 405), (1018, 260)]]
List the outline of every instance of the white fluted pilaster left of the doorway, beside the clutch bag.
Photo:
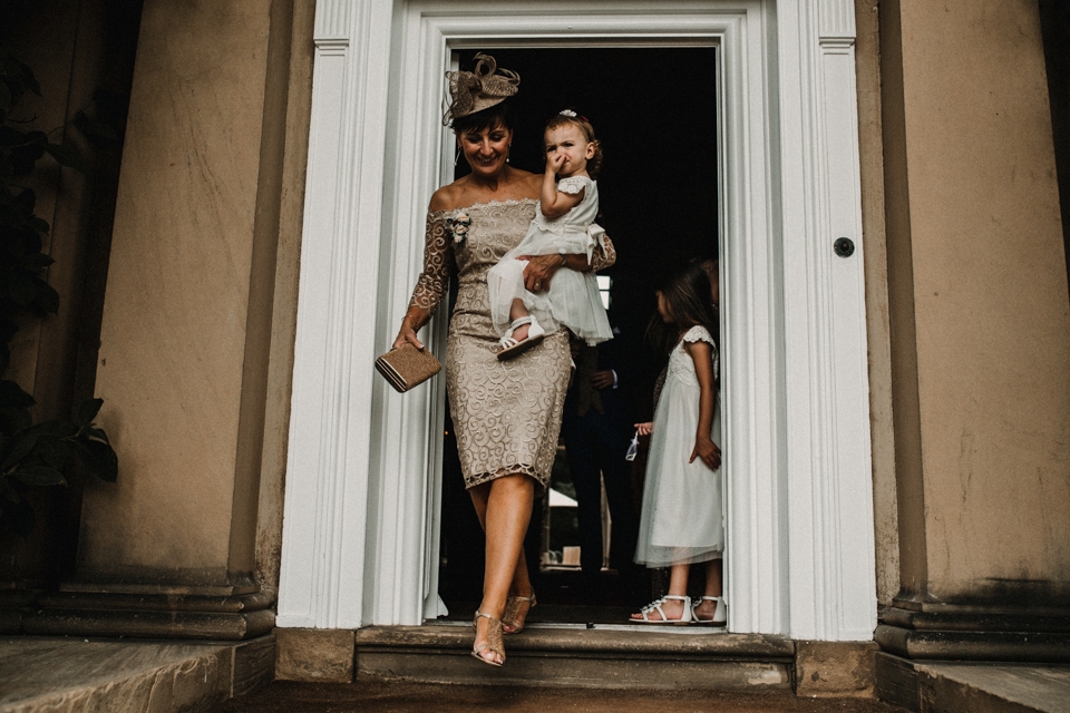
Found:
[(357, 627), (370, 507), (372, 361), (390, 3), (320, 0), (279, 626)]

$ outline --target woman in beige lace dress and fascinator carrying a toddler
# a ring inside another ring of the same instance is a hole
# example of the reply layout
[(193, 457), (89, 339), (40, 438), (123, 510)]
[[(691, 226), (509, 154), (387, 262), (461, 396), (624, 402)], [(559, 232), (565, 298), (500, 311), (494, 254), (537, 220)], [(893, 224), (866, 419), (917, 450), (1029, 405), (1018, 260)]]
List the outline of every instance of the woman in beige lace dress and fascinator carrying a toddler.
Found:
[[(519, 77), (498, 71), (492, 57), (476, 56), (474, 72), (450, 79), (451, 104), (444, 123), (457, 137), (471, 174), (431, 196), (424, 272), (393, 342), (424, 349), (417, 332), (446, 294), (456, 271), (457, 304), (446, 344), (446, 385), (465, 486), (487, 535), (483, 600), (473, 625), (473, 656), (505, 663), (503, 631), (517, 633), (535, 604), (523, 541), (536, 489), (549, 481), (568, 383), (568, 338), (556, 332), (522, 356), (499, 361), (490, 321), (487, 271), (527, 232), (543, 176), (509, 166), (513, 111), (508, 97)], [(527, 256), (525, 256), (527, 258)], [(606, 240), (588, 264), (586, 255), (531, 257), (524, 284), (547, 289), (562, 267), (600, 270), (613, 264)], [(508, 607), (507, 607), (508, 605)], [(503, 619), (506, 623), (503, 624)]]

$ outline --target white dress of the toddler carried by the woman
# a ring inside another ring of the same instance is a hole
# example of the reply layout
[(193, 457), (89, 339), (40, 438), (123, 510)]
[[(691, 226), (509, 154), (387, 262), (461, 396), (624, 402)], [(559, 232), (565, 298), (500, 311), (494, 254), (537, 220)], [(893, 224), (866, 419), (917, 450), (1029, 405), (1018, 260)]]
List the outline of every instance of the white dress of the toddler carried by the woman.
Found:
[(597, 184), (586, 176), (570, 176), (557, 182), (557, 191), (573, 195), (583, 191), (583, 199), (553, 219), (543, 215), (541, 207), (536, 209), (524, 240), (487, 273), (490, 319), (497, 333), (504, 335), (510, 324), (509, 307), (519, 297), (547, 334), (564, 324), (594, 345), (613, 339), (594, 272), (565, 267), (554, 273), (548, 290), (528, 292), (524, 287), (527, 262), (516, 260), (519, 255), (568, 253), (586, 254), (590, 261), (595, 245), (604, 244), (605, 231), (594, 223), (599, 215)]

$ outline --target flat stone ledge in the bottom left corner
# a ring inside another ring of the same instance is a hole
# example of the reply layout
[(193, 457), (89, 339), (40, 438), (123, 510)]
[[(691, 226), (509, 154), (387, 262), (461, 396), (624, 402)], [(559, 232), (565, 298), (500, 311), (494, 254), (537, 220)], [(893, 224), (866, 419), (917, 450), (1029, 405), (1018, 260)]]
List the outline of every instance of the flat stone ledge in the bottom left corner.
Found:
[(0, 713), (200, 713), (271, 681), (275, 637), (175, 642), (0, 638)]

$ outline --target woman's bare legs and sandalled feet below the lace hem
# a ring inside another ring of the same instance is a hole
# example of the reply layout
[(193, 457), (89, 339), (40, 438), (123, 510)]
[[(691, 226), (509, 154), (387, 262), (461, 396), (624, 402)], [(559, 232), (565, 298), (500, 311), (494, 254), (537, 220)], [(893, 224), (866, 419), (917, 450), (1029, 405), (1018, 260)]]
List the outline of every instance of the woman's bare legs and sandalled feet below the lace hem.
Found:
[[(487, 565), (479, 611), (499, 619), (510, 586), (531, 590), (524, 536), (532, 519), (535, 481), (524, 475), (503, 476), (468, 492), (487, 534)], [(480, 617), (476, 625), (476, 642), (484, 641), (489, 622)], [(490, 652), (485, 652), (484, 657), (497, 660)]]

